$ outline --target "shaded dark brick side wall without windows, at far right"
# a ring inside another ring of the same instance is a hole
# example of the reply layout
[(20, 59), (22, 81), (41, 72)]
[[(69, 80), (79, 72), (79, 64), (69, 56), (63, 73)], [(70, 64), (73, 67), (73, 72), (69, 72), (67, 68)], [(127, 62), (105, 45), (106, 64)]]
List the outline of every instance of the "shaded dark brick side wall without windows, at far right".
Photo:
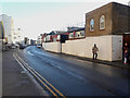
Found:
[(123, 34), (130, 30), (130, 7), (113, 3), (113, 34)]

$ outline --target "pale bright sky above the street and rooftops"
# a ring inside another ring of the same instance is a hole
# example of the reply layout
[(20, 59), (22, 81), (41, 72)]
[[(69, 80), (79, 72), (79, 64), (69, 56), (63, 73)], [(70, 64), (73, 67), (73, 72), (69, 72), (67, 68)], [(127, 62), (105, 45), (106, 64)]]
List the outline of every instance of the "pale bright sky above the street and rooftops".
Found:
[[(104, 2), (105, 1), (105, 2)], [(112, 0), (1, 0), (0, 14), (13, 17), (22, 37), (37, 39), (40, 34), (83, 26), (86, 13)], [(129, 0), (113, 0), (127, 4)]]

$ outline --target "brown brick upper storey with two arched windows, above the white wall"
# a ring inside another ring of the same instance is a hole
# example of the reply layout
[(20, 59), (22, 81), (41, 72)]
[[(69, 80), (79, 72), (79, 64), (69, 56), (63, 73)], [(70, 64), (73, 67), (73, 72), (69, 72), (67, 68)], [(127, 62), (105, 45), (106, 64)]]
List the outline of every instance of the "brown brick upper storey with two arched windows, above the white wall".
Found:
[(87, 13), (86, 17), (86, 37), (130, 32), (130, 7), (128, 5), (110, 2)]

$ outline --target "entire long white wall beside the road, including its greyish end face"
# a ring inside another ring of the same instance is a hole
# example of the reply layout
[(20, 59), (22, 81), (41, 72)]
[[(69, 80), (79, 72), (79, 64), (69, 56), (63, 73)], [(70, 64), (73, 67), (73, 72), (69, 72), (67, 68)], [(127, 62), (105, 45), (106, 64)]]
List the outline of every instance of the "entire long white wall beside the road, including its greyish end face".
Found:
[[(79, 57), (92, 58), (92, 47), (96, 44), (100, 60), (115, 61), (121, 60), (122, 37), (106, 35), (98, 37), (87, 37), (84, 39), (67, 40), (62, 44), (62, 52)], [(60, 52), (60, 42), (43, 44), (43, 48), (49, 51)]]

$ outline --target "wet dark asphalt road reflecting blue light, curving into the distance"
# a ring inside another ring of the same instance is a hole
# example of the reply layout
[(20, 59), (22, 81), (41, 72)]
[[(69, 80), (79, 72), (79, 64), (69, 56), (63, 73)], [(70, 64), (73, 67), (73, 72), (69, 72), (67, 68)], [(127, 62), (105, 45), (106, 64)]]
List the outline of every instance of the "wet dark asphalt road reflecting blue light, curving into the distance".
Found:
[(126, 69), (55, 54), (35, 46), (18, 56), (64, 96), (127, 96), (130, 72)]

